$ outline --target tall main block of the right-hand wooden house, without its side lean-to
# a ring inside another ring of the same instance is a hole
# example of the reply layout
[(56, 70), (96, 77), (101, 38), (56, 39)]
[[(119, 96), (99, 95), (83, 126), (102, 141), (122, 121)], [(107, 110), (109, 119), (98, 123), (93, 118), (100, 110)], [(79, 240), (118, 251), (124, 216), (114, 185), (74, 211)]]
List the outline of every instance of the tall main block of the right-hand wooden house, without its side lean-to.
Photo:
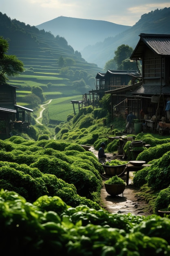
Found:
[(142, 85), (132, 94), (141, 99), (144, 112), (151, 117), (162, 117), (166, 115), (166, 104), (170, 99), (170, 35), (139, 36), (139, 43), (130, 58), (142, 61)]

